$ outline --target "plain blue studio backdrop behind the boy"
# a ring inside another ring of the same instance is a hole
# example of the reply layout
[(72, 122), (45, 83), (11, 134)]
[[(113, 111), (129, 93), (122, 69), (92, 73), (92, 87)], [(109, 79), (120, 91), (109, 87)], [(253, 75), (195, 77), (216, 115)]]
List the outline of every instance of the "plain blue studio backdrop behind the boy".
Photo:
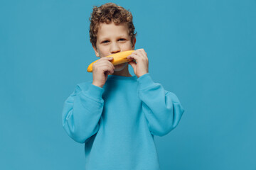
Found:
[[(0, 169), (84, 169), (61, 112), (92, 79), (89, 17), (105, 2), (0, 1)], [(113, 2), (132, 12), (152, 79), (185, 108), (156, 137), (161, 168), (255, 170), (256, 1)]]

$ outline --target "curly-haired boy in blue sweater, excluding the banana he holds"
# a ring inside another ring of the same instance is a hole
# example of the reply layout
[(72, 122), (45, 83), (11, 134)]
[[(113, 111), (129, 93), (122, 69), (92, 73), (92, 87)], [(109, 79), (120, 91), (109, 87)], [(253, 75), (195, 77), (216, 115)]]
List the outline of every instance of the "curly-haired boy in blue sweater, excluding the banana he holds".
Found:
[(86, 169), (160, 169), (154, 135), (176, 128), (184, 112), (175, 94), (154, 83), (143, 49), (113, 66), (117, 52), (134, 50), (132, 14), (116, 4), (94, 7), (90, 41), (100, 60), (92, 67), (92, 81), (75, 86), (65, 101), (63, 128), (76, 142), (85, 143)]

